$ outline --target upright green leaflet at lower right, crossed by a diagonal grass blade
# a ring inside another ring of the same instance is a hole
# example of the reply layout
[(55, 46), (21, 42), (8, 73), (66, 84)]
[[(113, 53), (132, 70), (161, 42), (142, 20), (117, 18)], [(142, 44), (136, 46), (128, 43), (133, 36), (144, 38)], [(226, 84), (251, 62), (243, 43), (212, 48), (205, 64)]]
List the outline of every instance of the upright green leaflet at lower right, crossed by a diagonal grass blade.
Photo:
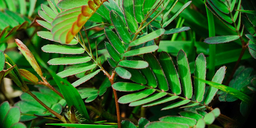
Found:
[[(221, 84), (225, 77), (225, 73), (226, 73), (226, 66), (220, 67), (220, 69), (216, 71), (214, 77), (212, 78), (212, 82)], [(205, 100), (204, 100), (205, 104), (209, 104), (211, 102), (211, 100), (213, 99), (217, 91), (218, 91), (217, 88), (213, 86), (209, 86), (207, 93), (205, 95)]]

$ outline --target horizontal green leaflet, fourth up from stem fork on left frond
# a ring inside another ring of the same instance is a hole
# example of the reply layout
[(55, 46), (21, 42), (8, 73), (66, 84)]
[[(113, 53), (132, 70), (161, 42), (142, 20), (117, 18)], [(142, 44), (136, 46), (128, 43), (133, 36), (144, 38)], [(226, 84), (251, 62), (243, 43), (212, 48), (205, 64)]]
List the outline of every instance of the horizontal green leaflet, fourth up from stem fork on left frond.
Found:
[(44, 52), (49, 53), (61, 53), (61, 54), (82, 54), (84, 53), (83, 48), (70, 47), (63, 45), (47, 44), (41, 48)]

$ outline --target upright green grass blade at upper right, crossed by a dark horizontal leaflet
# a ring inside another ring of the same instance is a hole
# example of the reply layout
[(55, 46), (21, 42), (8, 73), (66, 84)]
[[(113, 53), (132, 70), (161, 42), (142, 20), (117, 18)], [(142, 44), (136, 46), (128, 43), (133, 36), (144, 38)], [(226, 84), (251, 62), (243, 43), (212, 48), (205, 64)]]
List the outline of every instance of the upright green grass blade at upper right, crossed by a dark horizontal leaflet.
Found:
[[(205, 1), (206, 2), (206, 1)], [(207, 19), (208, 19), (208, 30), (209, 37), (215, 36), (215, 25), (213, 15), (210, 10), (206, 7)], [(212, 78), (215, 73), (215, 58), (216, 58), (216, 46), (215, 44), (209, 44), (209, 77)]]

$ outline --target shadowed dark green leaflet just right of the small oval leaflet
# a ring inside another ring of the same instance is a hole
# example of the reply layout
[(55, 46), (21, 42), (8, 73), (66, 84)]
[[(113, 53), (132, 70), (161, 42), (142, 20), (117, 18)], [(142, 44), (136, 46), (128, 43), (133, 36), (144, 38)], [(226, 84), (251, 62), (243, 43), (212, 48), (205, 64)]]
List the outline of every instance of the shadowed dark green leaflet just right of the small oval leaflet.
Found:
[(145, 77), (141, 74), (141, 72), (138, 69), (131, 69), (126, 67), (124, 67), (124, 69), (126, 69), (127, 71), (129, 71), (129, 73), (132, 74), (130, 80), (138, 84), (143, 84), (143, 85), (147, 84)]

